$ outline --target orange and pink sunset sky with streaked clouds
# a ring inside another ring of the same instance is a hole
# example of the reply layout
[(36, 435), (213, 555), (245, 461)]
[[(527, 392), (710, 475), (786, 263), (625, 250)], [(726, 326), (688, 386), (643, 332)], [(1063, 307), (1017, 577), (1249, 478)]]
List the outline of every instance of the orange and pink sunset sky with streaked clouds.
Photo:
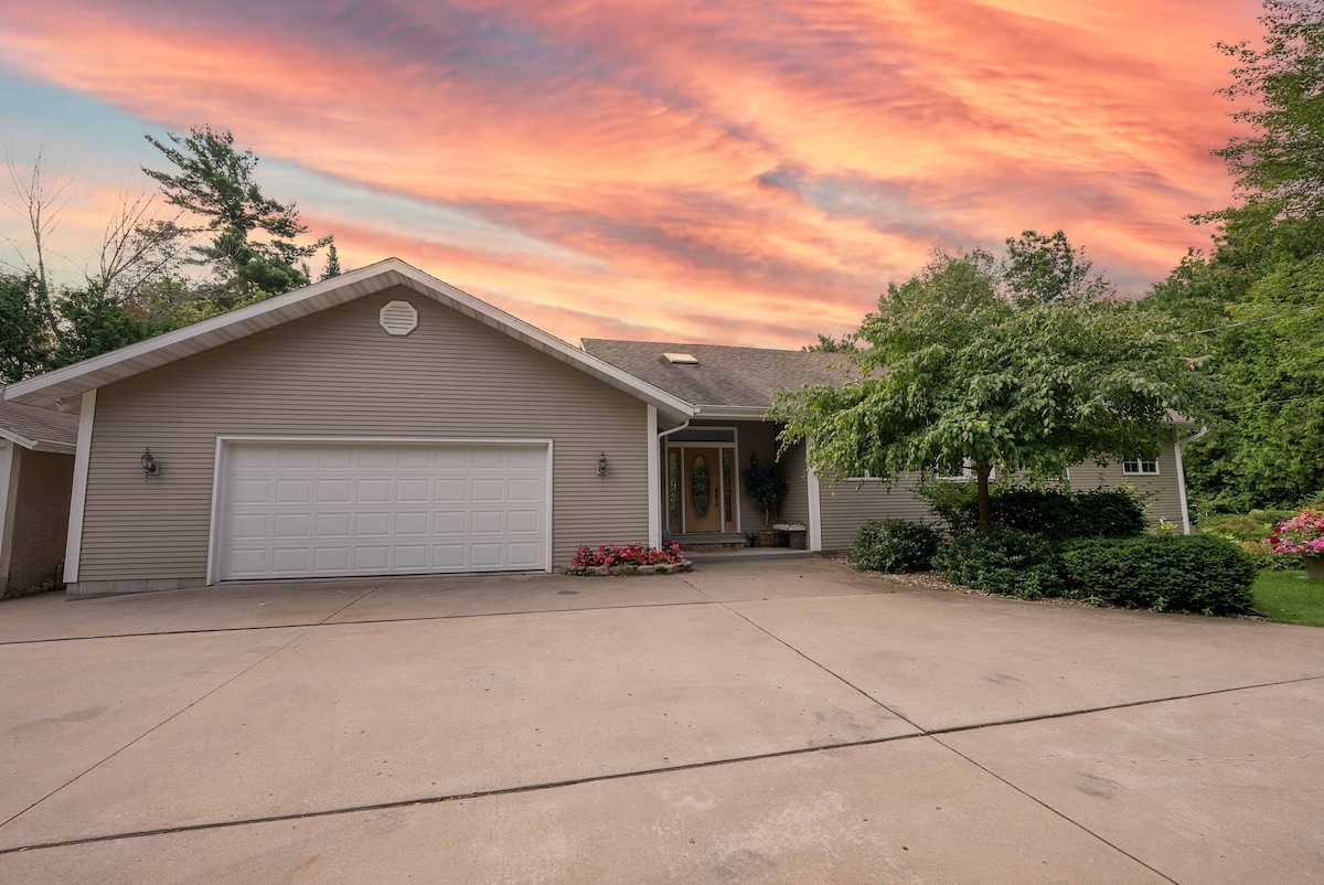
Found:
[[(1062, 228), (1127, 294), (1226, 205), (1250, 0), (0, 0), (0, 139), (73, 281), (143, 140), (211, 125), (346, 268), (571, 342), (798, 347), (936, 246)], [(0, 182), (4, 184), (4, 182)], [(0, 217), (0, 234), (19, 234)], [(13, 264), (0, 242), (0, 261)]]

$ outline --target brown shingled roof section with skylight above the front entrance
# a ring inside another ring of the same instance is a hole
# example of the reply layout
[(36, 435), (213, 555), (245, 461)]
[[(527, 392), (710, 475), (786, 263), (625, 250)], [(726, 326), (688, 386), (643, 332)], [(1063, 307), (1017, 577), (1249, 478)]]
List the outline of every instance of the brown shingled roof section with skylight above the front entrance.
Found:
[[(847, 374), (843, 354), (602, 338), (583, 344), (593, 356), (694, 404), (698, 415), (760, 417), (777, 391), (838, 384)], [(673, 362), (667, 354), (698, 362)]]

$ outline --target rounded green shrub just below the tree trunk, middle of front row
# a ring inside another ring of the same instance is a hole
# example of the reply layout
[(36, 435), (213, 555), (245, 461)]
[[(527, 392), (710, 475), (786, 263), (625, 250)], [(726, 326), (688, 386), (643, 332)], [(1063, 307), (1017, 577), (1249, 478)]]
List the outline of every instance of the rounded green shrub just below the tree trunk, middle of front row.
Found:
[(1064, 590), (1053, 542), (1002, 526), (957, 535), (939, 548), (933, 568), (953, 583), (1018, 599), (1061, 596)]

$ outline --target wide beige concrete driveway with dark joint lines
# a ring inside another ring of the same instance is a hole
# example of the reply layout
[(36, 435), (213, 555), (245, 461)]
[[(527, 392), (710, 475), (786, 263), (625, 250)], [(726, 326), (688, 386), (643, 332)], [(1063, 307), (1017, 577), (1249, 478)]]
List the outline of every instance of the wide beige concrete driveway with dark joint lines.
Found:
[(0, 604), (0, 881), (1324, 881), (1324, 632), (824, 560)]

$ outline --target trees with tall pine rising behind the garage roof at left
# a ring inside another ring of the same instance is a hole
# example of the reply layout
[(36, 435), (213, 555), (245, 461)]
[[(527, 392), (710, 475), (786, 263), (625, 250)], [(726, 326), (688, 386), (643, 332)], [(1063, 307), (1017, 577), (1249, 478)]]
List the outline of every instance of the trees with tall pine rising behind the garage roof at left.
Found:
[(322, 278), (340, 273), (331, 237), (306, 241), (294, 204), (262, 192), (257, 156), (234, 147), (229, 131), (147, 140), (176, 170), (144, 170), (158, 193), (120, 193), (93, 248), (95, 268), (77, 284), (57, 285), (46, 261), (73, 180), (52, 179), (41, 152), (25, 167), (5, 158), (9, 193), (0, 207), (23, 219), (28, 242), (13, 244), (16, 272), (0, 272), (0, 383), (307, 285), (307, 261), (323, 246)]

